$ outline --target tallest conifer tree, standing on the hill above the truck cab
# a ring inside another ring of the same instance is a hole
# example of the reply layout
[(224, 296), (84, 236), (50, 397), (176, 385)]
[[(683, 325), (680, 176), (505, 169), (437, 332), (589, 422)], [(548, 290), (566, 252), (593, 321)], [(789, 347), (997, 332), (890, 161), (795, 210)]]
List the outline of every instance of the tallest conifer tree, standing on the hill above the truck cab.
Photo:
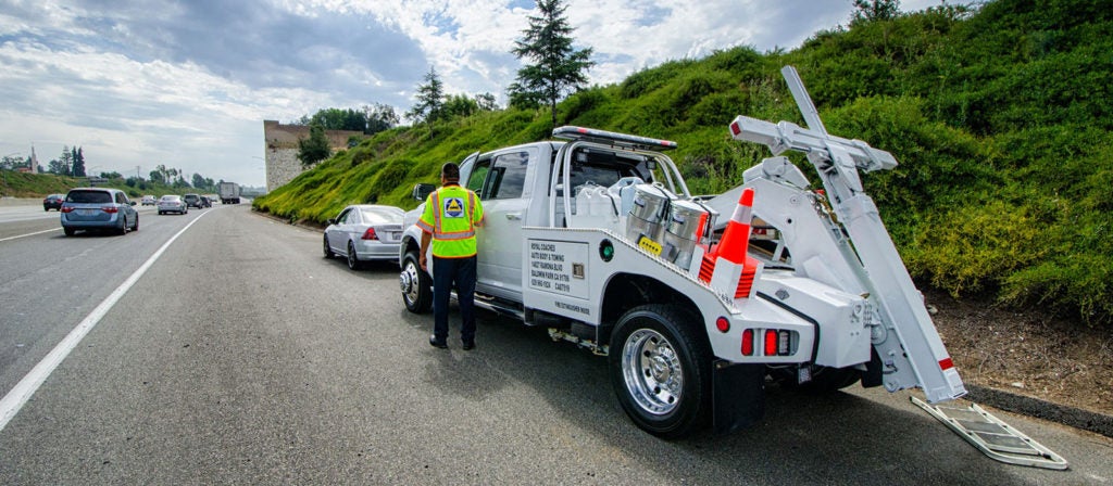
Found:
[(556, 125), (556, 102), (565, 94), (588, 83), (591, 48), (572, 48), (572, 31), (564, 17), (561, 0), (536, 0), (540, 16), (530, 16), (525, 37), (514, 41), (514, 55), (533, 61), (518, 70), (518, 80), (511, 84), (511, 100), (529, 102), (541, 100), (549, 104), (552, 124)]

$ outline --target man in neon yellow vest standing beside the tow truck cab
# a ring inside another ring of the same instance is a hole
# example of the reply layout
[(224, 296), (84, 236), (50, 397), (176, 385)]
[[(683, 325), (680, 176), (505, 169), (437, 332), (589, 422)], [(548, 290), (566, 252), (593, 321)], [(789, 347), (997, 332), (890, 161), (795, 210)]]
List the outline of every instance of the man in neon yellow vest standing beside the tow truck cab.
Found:
[(449, 347), (449, 294), (456, 286), (460, 302), (460, 341), (464, 351), (475, 348), (475, 226), (483, 225), (483, 204), (474, 192), (460, 186), (460, 166), (441, 168), (441, 188), (425, 200), (421, 227), (422, 270), (433, 245), (433, 335), (429, 344)]

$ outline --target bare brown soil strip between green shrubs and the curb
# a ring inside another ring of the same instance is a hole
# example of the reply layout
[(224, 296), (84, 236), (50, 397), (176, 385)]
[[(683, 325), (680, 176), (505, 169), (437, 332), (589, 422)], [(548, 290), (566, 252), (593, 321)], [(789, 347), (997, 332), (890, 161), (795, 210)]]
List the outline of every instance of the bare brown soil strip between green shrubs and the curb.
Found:
[(1113, 415), (1113, 332), (923, 291), (966, 384)]

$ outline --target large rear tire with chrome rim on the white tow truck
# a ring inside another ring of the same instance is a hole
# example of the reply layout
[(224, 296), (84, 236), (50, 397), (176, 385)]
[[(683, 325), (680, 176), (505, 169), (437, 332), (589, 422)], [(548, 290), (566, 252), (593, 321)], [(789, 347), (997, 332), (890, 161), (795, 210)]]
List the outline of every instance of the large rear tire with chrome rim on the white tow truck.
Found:
[(650, 434), (680, 438), (710, 421), (711, 351), (699, 324), (682, 307), (647, 304), (614, 326), (611, 386), (627, 415)]

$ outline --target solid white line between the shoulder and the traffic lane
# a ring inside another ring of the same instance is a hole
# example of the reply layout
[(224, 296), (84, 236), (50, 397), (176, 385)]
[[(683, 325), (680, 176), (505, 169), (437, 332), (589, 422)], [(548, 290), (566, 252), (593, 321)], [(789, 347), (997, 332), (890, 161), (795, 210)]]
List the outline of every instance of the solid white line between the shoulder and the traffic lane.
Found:
[(8, 422), (19, 413), (19, 409), (23, 407), (27, 401), (31, 399), (31, 395), (35, 395), (35, 392), (39, 389), (39, 386), (42, 386), (42, 383), (47, 381), (47, 377), (53, 373), (55, 368), (61, 364), (62, 360), (66, 360), (66, 356), (69, 356), (70, 352), (77, 347), (87, 334), (89, 334), (89, 331), (92, 331), (92, 328), (96, 327), (97, 323), (100, 322), (100, 318), (104, 317), (105, 314), (107, 314), (108, 311), (116, 305), (120, 297), (122, 297), (124, 294), (126, 294), (128, 290), (130, 290), (131, 286), (139, 281), (139, 277), (147, 273), (147, 270), (155, 264), (158, 257), (162, 256), (162, 252), (165, 252), (166, 249), (168, 249), (170, 244), (178, 239), (178, 236), (181, 236), (186, 230), (189, 230), (189, 226), (193, 226), (198, 220), (205, 217), (205, 214), (207, 213), (201, 213), (201, 215), (194, 219), (194, 221), (190, 221), (189, 224), (186, 224), (186, 227), (183, 227), (181, 231), (177, 232), (170, 237), (170, 240), (164, 243), (154, 255), (150, 255), (150, 257), (147, 259), (147, 261), (144, 262), (144, 264), (128, 277), (128, 280), (124, 281), (120, 286), (116, 287), (116, 290), (112, 291), (112, 293), (109, 294), (108, 297), (97, 306), (97, 308), (93, 308), (92, 312), (90, 312), (89, 315), (87, 315), (85, 320), (77, 325), (77, 327), (73, 327), (73, 331), (70, 331), (70, 333), (66, 335), (66, 338), (58, 343), (58, 345), (55, 346), (55, 348), (51, 350), (50, 353), (48, 353), (47, 356), (39, 362), (39, 364), (35, 365), (35, 368), (32, 368), (27, 376), (23, 376), (23, 379), (20, 379), (19, 383), (17, 383), (7, 395), (4, 395), (3, 399), (0, 399), (0, 431), (3, 431), (3, 428), (8, 426)]

